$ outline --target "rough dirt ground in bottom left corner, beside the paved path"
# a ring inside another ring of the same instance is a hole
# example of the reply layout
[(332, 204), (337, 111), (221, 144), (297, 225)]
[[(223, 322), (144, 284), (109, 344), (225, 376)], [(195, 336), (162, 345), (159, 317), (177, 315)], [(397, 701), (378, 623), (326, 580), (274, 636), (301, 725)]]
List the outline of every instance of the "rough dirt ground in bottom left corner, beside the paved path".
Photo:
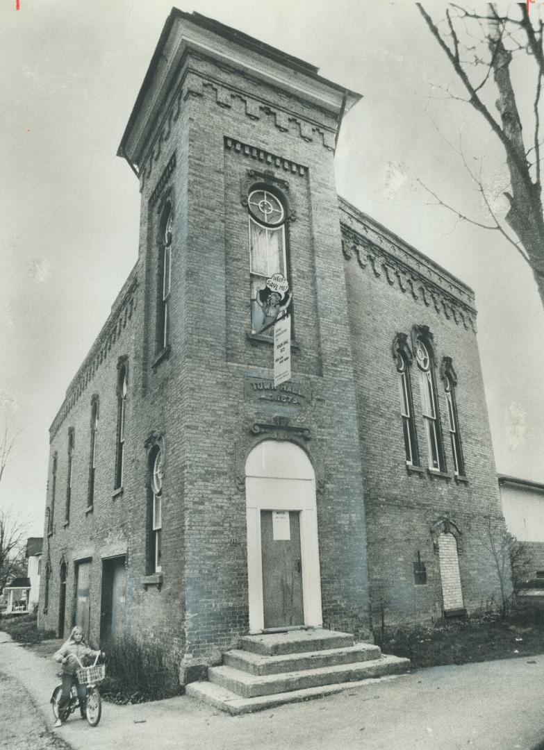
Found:
[(13, 677), (0, 672), (0, 748), (5, 750), (70, 750), (47, 729), (29, 693)]

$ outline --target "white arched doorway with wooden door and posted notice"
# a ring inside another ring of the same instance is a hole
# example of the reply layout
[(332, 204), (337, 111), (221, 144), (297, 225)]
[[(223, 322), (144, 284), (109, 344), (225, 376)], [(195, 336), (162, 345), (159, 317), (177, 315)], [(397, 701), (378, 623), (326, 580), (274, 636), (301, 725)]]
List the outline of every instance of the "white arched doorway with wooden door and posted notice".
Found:
[(314, 468), (284, 440), (245, 462), (251, 633), (322, 624)]

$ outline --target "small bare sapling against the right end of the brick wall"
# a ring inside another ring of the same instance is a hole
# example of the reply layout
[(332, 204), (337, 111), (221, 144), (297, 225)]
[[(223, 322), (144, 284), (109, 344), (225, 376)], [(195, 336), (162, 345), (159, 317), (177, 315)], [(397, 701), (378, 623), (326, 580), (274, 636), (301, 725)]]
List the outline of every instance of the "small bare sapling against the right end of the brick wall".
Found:
[(531, 559), (527, 547), (511, 534), (502, 515), (494, 511), (490, 502), (483, 526), (476, 529), (476, 538), (490, 554), (500, 589), (500, 616), (504, 619), (512, 592), (527, 577)]

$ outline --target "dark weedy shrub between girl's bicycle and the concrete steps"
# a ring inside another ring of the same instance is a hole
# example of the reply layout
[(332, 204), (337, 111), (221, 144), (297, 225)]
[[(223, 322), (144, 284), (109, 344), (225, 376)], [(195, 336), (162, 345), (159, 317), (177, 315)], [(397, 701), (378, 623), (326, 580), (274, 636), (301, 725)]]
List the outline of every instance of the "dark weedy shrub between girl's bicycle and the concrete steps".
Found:
[(116, 703), (142, 703), (180, 694), (179, 659), (157, 643), (142, 643), (125, 635), (103, 648), (107, 661), (101, 692)]

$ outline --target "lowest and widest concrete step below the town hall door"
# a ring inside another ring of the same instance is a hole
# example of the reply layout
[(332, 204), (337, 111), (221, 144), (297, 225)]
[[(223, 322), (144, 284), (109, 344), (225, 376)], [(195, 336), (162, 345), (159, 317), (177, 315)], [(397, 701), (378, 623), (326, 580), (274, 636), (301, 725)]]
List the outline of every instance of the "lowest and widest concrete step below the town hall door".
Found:
[[(404, 661), (407, 661), (407, 659)], [(404, 667), (403, 671), (407, 671), (408, 666), (409, 664)], [(382, 680), (395, 679), (398, 676), (401, 676), (401, 674), (396, 673), (383, 677), (354, 680), (353, 682), (336, 682), (332, 685), (320, 685), (316, 688), (305, 688), (303, 690), (276, 693), (274, 695), (260, 695), (259, 697), (254, 698), (240, 697), (236, 693), (233, 693), (226, 688), (222, 688), (220, 685), (215, 685), (213, 682), (191, 682), (185, 688), (185, 694), (194, 697), (196, 700), (201, 700), (203, 703), (209, 703), (211, 706), (221, 709), (221, 711), (227, 711), (230, 715), (236, 716), (244, 713), (251, 713), (253, 711), (263, 711), (265, 709), (274, 708), (275, 706), (283, 706), (285, 703), (298, 703), (301, 700), (312, 700), (313, 698), (332, 695), (343, 690), (362, 688), (365, 687), (365, 685), (374, 682), (381, 682)]]

